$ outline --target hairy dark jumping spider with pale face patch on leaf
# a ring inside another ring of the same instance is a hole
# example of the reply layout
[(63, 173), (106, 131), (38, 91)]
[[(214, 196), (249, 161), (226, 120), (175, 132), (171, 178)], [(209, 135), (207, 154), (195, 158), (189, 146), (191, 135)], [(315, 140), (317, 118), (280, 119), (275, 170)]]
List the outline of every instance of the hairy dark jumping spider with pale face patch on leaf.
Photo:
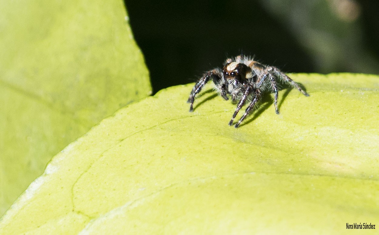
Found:
[(198, 94), (204, 85), (212, 78), (215, 83), (216, 90), (222, 98), (229, 100), (228, 96), (232, 97), (233, 101), (239, 100), (237, 108), (233, 114), (229, 125), (233, 124), (233, 119), (237, 116), (246, 100), (250, 100), (245, 113), (240, 120), (235, 124), (239, 127), (241, 122), (253, 110), (255, 104), (261, 99), (266, 92), (273, 92), (275, 111), (278, 111), (278, 82), (289, 83), (290, 86), (297, 88), (304, 96), (309, 96), (298, 83), (294, 82), (286, 74), (280, 71), (277, 67), (266, 66), (252, 60), (248, 56), (239, 55), (235, 58), (229, 58), (224, 63), (224, 68), (221, 70), (215, 69), (206, 72), (196, 83), (188, 98), (188, 103), (191, 103), (189, 111), (193, 111), (193, 102), (196, 94)]

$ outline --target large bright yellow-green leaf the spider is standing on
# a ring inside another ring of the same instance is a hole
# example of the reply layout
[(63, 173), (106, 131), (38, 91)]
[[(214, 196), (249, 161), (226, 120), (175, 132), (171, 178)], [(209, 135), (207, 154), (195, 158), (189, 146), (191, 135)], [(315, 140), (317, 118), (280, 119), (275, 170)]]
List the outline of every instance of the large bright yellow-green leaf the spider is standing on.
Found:
[[(293, 74), (239, 128), (193, 84), (128, 105), (47, 165), (0, 233), (332, 233), (379, 219), (379, 77)], [(241, 115), (241, 114), (240, 114)]]

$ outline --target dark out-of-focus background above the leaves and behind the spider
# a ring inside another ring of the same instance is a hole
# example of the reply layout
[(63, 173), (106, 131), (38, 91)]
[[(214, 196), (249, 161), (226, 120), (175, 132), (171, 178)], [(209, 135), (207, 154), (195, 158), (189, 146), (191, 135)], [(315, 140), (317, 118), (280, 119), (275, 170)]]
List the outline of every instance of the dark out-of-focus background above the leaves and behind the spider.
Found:
[(153, 92), (194, 82), (227, 56), (285, 72), (379, 74), (379, 1), (125, 0)]

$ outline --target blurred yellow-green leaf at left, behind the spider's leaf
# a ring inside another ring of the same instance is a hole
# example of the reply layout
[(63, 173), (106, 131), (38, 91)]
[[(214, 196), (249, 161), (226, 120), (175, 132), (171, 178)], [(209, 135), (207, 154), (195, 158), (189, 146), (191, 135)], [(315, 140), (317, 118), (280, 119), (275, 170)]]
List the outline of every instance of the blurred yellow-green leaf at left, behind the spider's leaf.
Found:
[(151, 93), (122, 0), (0, 3), (0, 215), (63, 147)]

